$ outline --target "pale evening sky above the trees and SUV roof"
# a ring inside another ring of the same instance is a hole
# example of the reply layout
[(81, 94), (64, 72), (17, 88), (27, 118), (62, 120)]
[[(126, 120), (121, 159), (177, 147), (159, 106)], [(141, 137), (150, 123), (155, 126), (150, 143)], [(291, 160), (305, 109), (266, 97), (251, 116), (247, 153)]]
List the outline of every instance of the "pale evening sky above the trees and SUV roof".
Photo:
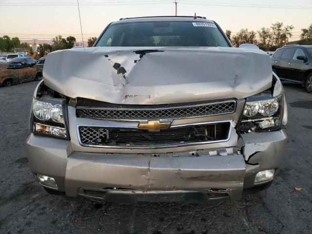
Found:
[[(119, 18), (175, 15), (174, 0), (79, 0), (84, 39)], [(312, 0), (177, 0), (177, 15), (205, 16), (225, 31), (259, 30), (276, 21), (292, 24), (293, 38), (312, 23)], [(265, 6), (265, 7), (264, 7)], [(0, 0), (0, 36), (81, 40), (77, 0)]]

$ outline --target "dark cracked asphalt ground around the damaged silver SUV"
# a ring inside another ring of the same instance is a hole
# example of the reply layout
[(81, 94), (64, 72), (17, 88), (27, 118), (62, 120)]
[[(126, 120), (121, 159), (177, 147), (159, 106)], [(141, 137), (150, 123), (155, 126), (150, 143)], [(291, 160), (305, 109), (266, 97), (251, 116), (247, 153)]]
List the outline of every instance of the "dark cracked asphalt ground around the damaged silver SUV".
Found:
[(0, 88), (0, 234), (312, 233), (312, 94), (300, 85), (284, 83), (289, 139), (281, 173), (266, 191), (244, 191), (234, 203), (100, 204), (49, 195), (35, 182), (25, 141), (37, 83)]

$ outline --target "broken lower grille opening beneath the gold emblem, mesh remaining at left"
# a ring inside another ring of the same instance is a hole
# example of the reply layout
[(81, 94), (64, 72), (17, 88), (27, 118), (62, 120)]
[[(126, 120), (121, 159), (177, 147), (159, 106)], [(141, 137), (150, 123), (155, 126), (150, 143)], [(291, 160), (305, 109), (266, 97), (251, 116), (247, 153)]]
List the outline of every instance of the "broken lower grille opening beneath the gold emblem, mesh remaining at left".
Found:
[(225, 140), (229, 129), (229, 122), (176, 127), (160, 132), (80, 126), (79, 134), (83, 145), (153, 147)]

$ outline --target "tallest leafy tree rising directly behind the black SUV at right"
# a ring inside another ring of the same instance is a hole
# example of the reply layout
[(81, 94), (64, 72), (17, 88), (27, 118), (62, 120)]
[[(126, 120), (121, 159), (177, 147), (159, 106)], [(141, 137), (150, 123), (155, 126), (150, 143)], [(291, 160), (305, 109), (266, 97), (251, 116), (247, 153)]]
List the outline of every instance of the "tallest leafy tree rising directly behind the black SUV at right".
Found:
[(283, 23), (276, 22), (271, 26), (271, 43), (273, 46), (282, 47), (286, 45), (288, 40), (292, 37), (292, 25), (283, 27)]

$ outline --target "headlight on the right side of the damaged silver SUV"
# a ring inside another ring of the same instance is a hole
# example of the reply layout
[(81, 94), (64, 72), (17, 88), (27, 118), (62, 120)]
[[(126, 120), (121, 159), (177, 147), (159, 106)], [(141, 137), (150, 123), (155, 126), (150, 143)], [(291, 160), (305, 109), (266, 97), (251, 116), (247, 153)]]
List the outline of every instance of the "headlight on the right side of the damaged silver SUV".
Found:
[(277, 97), (260, 95), (247, 98), (237, 133), (269, 132), (287, 123), (284, 93)]

